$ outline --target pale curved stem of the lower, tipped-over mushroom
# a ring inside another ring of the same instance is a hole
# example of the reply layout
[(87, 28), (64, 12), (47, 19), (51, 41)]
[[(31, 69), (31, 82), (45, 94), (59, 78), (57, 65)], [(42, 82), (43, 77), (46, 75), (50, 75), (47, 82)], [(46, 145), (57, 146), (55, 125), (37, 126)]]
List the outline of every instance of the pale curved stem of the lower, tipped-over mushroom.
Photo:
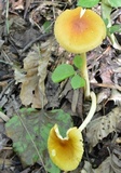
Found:
[(96, 110), (96, 95), (95, 95), (94, 92), (91, 92), (91, 99), (92, 99), (91, 109), (90, 109), (85, 120), (79, 127), (80, 131), (82, 131), (88, 125), (88, 123), (91, 121), (91, 119), (93, 118), (93, 116), (95, 114), (95, 110)]

